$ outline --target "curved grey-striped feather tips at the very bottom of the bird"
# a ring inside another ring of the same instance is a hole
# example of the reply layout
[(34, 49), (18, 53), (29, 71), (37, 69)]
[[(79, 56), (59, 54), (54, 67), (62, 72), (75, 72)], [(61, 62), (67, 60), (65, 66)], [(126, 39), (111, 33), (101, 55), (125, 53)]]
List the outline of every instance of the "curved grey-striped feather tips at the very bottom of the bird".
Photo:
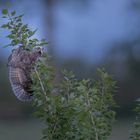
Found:
[(15, 96), (23, 102), (32, 101), (34, 99), (33, 93), (26, 92), (21, 85), (12, 84), (12, 89)]

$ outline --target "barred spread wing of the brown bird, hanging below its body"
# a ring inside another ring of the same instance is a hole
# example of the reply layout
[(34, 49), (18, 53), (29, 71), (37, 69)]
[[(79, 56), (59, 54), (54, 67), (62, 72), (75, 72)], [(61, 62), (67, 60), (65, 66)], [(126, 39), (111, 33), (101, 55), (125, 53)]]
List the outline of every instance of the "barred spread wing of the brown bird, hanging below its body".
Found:
[(21, 101), (31, 101), (33, 91), (32, 80), (23, 69), (9, 67), (9, 80), (16, 97)]

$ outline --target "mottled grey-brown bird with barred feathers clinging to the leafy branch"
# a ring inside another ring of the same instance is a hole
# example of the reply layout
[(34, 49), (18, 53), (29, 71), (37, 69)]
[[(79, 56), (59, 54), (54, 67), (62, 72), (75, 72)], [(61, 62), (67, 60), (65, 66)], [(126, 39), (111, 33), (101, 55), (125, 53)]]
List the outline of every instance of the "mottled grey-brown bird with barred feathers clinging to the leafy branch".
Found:
[(20, 101), (32, 101), (34, 99), (31, 90), (31, 72), (33, 64), (42, 53), (42, 47), (34, 47), (32, 50), (19, 47), (14, 49), (8, 58), (10, 84), (15, 96)]

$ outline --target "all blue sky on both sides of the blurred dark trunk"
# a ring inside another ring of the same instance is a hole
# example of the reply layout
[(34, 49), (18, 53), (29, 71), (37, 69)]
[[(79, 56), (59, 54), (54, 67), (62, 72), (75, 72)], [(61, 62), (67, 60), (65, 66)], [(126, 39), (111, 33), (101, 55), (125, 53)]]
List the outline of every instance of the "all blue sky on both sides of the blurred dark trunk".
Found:
[[(42, 0), (12, 0), (10, 9), (24, 13), (24, 21), (33, 29), (36, 37), (43, 37)], [(85, 3), (67, 1), (54, 7), (55, 26), (52, 31), (56, 53), (62, 58), (78, 57), (90, 63), (101, 60), (116, 42), (133, 40), (139, 33), (139, 14), (132, 0), (87, 0)], [(0, 38), (3, 38), (3, 32)], [(7, 43), (4, 39), (0, 45)], [(0, 48), (0, 52), (8, 50)], [(9, 52), (9, 51), (8, 51)]]

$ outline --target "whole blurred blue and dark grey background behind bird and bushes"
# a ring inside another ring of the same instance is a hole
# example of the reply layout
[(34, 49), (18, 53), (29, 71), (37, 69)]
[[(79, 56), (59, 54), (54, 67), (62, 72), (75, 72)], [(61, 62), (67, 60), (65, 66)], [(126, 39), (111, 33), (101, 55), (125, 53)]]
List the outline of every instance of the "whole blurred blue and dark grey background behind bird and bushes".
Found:
[[(0, 0), (0, 10), (24, 13), (24, 22), (46, 38), (57, 66), (79, 77), (105, 67), (117, 81), (117, 121), (110, 140), (128, 140), (135, 100), (140, 97), (140, 2), (138, 0)], [(0, 14), (1, 16), (1, 14)], [(0, 19), (0, 25), (4, 21)], [(0, 139), (39, 140), (43, 124), (30, 103), (18, 101), (8, 80), (11, 48), (0, 29)]]

